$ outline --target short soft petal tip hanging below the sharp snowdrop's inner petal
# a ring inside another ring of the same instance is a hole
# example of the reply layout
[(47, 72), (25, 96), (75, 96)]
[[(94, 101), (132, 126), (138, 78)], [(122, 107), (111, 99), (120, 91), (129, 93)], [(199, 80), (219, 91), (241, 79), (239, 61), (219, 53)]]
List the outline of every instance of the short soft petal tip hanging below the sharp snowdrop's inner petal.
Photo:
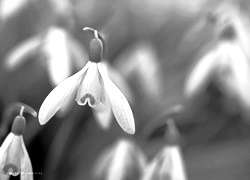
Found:
[(97, 106), (92, 108), (93, 114), (99, 126), (103, 129), (108, 129), (112, 120), (112, 111), (110, 104), (106, 101), (106, 104), (99, 103)]

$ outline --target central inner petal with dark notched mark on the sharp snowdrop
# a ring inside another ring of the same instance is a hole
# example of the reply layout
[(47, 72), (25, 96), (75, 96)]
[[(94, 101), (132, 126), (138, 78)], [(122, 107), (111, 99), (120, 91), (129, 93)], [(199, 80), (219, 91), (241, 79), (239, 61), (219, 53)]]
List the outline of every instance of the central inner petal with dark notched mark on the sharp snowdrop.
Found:
[(82, 79), (77, 92), (77, 103), (94, 107), (105, 101), (102, 78), (99, 74), (97, 63), (90, 62), (89, 69)]

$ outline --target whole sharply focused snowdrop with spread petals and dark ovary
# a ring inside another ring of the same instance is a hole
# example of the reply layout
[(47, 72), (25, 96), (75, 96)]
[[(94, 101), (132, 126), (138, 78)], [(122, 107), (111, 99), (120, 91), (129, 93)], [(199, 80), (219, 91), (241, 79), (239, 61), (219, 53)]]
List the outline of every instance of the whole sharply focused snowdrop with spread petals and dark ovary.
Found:
[(76, 101), (79, 105), (88, 103), (94, 114), (100, 113), (101, 110), (108, 114), (111, 109), (122, 129), (134, 134), (135, 122), (132, 110), (126, 97), (110, 80), (105, 64), (101, 62), (103, 44), (98, 38), (98, 32), (93, 31), (95, 38), (90, 42), (89, 61), (82, 70), (64, 80), (50, 92), (39, 110), (39, 122), (45, 124), (64, 103), (70, 101), (69, 97), (77, 94)]

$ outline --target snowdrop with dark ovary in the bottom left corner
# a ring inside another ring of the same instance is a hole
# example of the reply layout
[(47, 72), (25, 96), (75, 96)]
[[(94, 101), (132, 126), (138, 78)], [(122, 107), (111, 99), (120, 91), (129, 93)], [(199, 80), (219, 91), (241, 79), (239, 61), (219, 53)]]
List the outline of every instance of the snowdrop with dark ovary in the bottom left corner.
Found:
[(0, 179), (20, 175), (21, 180), (33, 180), (31, 161), (23, 141), (26, 120), (22, 115), (15, 118), (11, 133), (0, 147)]

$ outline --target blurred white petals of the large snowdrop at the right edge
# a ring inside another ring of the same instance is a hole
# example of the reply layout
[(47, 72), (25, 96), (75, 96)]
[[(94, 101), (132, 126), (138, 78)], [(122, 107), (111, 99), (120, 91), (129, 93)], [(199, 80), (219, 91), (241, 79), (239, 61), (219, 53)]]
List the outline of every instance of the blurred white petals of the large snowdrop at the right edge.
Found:
[(250, 107), (249, 77), (248, 57), (242, 48), (236, 43), (223, 42), (196, 64), (188, 77), (185, 94), (193, 97), (213, 81), (222, 92)]

